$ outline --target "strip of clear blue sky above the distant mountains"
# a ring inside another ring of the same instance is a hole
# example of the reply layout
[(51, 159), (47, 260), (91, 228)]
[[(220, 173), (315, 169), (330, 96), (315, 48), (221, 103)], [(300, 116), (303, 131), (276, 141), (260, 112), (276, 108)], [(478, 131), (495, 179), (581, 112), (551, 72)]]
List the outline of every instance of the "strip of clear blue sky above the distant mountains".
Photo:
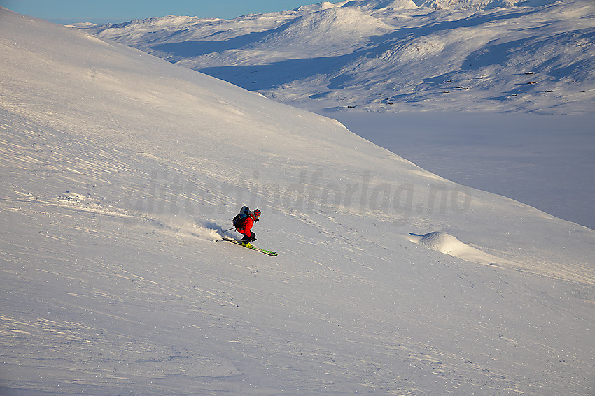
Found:
[[(164, 15), (233, 18), (291, 10), (323, 0), (0, 0), (17, 13), (52, 22), (125, 22)], [(331, 0), (336, 2), (338, 0)]]

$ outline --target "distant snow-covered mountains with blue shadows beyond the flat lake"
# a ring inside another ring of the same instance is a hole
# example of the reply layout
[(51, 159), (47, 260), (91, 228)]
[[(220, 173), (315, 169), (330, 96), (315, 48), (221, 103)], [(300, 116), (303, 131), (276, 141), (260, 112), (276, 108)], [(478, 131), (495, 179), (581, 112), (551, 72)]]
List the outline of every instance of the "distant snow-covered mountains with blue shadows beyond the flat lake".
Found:
[(595, 107), (591, 0), (340, 1), (89, 31), (316, 111)]

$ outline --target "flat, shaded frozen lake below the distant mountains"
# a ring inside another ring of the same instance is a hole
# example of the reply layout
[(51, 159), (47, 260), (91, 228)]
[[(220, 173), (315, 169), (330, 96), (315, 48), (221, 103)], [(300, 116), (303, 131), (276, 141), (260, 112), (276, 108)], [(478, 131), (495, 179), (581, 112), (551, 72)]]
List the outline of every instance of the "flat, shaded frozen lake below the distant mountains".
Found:
[(595, 115), (321, 114), (446, 179), (595, 229)]

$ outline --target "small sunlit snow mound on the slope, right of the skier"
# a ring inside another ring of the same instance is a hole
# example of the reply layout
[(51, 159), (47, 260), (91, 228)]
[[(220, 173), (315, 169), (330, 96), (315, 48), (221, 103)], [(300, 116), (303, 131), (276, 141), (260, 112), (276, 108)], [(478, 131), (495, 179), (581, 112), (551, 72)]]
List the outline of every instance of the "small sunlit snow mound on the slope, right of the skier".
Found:
[(509, 261), (503, 260), (491, 254), (485, 253), (475, 247), (470, 247), (468, 244), (461, 242), (456, 237), (441, 232), (427, 233), (424, 235), (417, 235), (409, 233), (409, 240), (421, 244), (428, 249), (440, 251), (440, 253), (449, 254), (458, 258), (462, 258), (466, 261), (472, 261), (479, 264), (496, 264), (496, 263), (508, 263)]

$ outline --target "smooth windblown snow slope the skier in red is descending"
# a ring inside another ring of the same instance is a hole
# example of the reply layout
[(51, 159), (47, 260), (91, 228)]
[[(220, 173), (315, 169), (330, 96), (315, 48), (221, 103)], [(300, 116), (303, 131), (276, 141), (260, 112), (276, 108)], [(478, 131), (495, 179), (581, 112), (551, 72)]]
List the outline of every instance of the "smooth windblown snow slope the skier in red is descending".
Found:
[[(0, 31), (2, 395), (592, 393), (592, 230), (139, 50)], [(279, 256), (214, 242), (241, 205)]]

